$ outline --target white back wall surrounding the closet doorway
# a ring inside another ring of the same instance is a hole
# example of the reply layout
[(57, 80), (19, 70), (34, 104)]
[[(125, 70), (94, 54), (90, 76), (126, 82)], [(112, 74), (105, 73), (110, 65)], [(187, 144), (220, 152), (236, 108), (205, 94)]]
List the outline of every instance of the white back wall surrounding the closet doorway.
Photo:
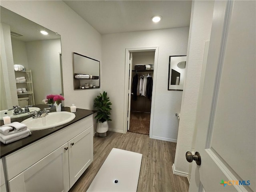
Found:
[[(186, 55), (188, 27), (151, 30), (102, 36), (102, 91), (112, 102), (112, 122), (109, 128), (123, 132), (125, 49), (159, 46), (156, 76), (156, 94), (152, 135), (154, 138), (176, 140), (182, 92), (168, 91), (168, 65), (170, 55)], [(156, 70), (156, 69), (155, 69)], [(153, 90), (154, 91), (154, 90)]]

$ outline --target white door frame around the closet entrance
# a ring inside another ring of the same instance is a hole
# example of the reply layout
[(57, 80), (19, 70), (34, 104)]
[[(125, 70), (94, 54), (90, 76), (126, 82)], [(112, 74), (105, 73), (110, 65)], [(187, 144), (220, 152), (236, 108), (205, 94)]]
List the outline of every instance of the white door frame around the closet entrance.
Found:
[(130, 113), (129, 105), (129, 96), (131, 90), (131, 80), (132, 77), (129, 78), (129, 70), (130, 70), (130, 52), (142, 52), (142, 51), (155, 51), (154, 57), (154, 76), (153, 76), (153, 90), (152, 90), (152, 100), (151, 100), (151, 111), (150, 111), (150, 129), (149, 129), (149, 137), (152, 138), (153, 132), (153, 117), (154, 117), (154, 104), (155, 104), (155, 94), (156, 94), (156, 75), (157, 75), (157, 64), (158, 64), (158, 52), (159, 47), (140, 47), (140, 48), (126, 48), (125, 49), (125, 78), (124, 78), (124, 133), (127, 133), (127, 118), (128, 112)]

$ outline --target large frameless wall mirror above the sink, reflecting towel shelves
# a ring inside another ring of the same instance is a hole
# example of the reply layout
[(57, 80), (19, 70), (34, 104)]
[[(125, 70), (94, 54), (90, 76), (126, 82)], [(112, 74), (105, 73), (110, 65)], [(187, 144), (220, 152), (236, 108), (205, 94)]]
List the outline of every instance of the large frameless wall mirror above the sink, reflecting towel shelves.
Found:
[[(63, 95), (60, 35), (2, 6), (0, 14), (1, 110), (41, 104), (48, 94)], [(14, 65), (24, 69), (15, 71)], [(22, 84), (16, 78), (23, 76)], [(28, 92), (19, 93), (20, 88)]]

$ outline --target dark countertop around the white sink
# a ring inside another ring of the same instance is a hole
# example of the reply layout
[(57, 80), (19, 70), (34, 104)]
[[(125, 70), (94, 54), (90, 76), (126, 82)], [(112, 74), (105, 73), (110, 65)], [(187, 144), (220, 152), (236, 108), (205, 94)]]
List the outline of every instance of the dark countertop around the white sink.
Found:
[[(44, 108), (47, 108), (49, 107), (49, 105), (44, 105), (44, 104), (39, 104), (39, 105), (35, 105), (33, 107), (38, 107), (40, 108), (41, 110), (44, 109)], [(61, 108), (62, 111), (68, 111), (70, 112), (70, 108), (69, 107), (62, 107)], [(50, 112), (55, 112), (55, 107), (52, 107), (50, 109)], [(8, 155), (8, 154), (11, 154), (12, 152), (15, 152), (37, 140), (40, 140), (58, 130), (61, 130), (62, 128), (66, 127), (66, 126), (69, 126), (71, 124), (73, 124), (74, 122), (77, 122), (91, 114), (94, 114), (95, 111), (92, 111), (92, 110), (86, 110), (86, 109), (78, 109), (76, 110), (76, 112), (74, 113), (76, 115), (76, 117), (64, 124), (64, 125), (61, 125), (61, 126), (57, 126), (57, 127), (54, 127), (54, 128), (49, 128), (49, 129), (45, 129), (45, 130), (38, 130), (38, 131), (31, 131), (31, 135), (26, 137), (26, 138), (23, 138), (23, 139), (20, 139), (18, 141), (15, 141), (15, 142), (12, 142), (12, 143), (9, 143), (9, 144), (3, 144), (2, 142), (1, 145), (0, 145), (0, 153), (1, 153), (1, 158)], [(26, 117), (21, 117), (21, 118), (15, 118), (15, 119), (11, 119), (11, 122), (14, 122), (14, 121), (17, 121), (17, 122), (22, 122), (23, 120), (29, 118), (29, 117), (32, 117), (32, 115), (29, 115), (29, 116), (26, 116)], [(2, 126), (4, 124), (4, 121), (3, 120), (0, 120), (0, 125)]]

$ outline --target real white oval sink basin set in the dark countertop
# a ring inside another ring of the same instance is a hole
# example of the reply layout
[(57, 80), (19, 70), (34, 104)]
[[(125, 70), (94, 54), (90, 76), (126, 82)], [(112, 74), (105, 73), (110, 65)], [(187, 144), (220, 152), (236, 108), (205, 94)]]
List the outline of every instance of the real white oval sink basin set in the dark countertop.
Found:
[(30, 131), (34, 131), (34, 130), (43, 130), (43, 129), (53, 128), (56, 126), (66, 124), (72, 121), (75, 117), (76, 115), (74, 113), (67, 112), (67, 111), (60, 111), (60, 112), (48, 113), (48, 115), (44, 117), (39, 117), (36, 119), (33, 119), (33, 117), (30, 117), (22, 121), (21, 123), (28, 126), (28, 129)]

